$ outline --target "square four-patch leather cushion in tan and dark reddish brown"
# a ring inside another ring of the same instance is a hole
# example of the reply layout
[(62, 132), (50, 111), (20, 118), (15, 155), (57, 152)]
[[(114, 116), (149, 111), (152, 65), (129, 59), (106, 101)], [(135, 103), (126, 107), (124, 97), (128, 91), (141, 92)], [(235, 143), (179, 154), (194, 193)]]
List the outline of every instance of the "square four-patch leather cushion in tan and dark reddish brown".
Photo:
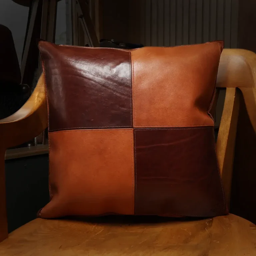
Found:
[(39, 216), (227, 213), (210, 114), (222, 42), (39, 48), (51, 197)]

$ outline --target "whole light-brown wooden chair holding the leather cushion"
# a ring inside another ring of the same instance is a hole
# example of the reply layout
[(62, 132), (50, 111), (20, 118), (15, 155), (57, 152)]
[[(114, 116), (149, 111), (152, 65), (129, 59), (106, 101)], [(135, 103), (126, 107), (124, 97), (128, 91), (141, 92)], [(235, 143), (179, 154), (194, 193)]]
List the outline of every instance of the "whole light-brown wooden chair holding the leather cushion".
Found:
[[(217, 87), (227, 88), (217, 140), (217, 156), (228, 201), (239, 97), (244, 97), (256, 132), (255, 82), (256, 54), (247, 50), (225, 49), (217, 78)], [(4, 154), (7, 148), (35, 137), (47, 127), (44, 89), (44, 79), (41, 77), (27, 103), (12, 116), (0, 120), (1, 256), (256, 255), (256, 226), (233, 214), (189, 220), (154, 216), (37, 218), (13, 231), (7, 238)]]

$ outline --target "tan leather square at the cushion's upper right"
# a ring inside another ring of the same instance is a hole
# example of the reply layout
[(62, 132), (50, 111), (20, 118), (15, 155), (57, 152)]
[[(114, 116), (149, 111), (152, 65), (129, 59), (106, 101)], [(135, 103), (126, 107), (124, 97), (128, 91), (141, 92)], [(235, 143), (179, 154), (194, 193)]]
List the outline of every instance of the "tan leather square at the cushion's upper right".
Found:
[(208, 110), (221, 51), (217, 41), (131, 51), (133, 127), (213, 126)]

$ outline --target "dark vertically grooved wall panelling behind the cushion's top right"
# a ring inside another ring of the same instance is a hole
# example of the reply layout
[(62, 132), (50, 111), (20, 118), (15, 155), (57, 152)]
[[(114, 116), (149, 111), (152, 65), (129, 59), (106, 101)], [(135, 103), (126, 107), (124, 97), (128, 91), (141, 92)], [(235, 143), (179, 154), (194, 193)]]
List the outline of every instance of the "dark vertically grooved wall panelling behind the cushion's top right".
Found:
[[(130, 38), (146, 46), (224, 40), (237, 47), (239, 0), (133, 0)], [(138, 33), (139, 30), (139, 33)]]

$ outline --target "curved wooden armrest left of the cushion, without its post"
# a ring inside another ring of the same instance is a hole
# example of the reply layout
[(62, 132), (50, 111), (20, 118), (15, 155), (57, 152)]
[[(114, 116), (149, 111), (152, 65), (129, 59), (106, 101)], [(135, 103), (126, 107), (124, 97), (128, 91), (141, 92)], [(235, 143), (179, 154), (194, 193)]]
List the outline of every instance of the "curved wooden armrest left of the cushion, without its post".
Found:
[(1, 147), (20, 145), (37, 135), (48, 126), (44, 77), (38, 80), (28, 101), (13, 115), (0, 120)]

